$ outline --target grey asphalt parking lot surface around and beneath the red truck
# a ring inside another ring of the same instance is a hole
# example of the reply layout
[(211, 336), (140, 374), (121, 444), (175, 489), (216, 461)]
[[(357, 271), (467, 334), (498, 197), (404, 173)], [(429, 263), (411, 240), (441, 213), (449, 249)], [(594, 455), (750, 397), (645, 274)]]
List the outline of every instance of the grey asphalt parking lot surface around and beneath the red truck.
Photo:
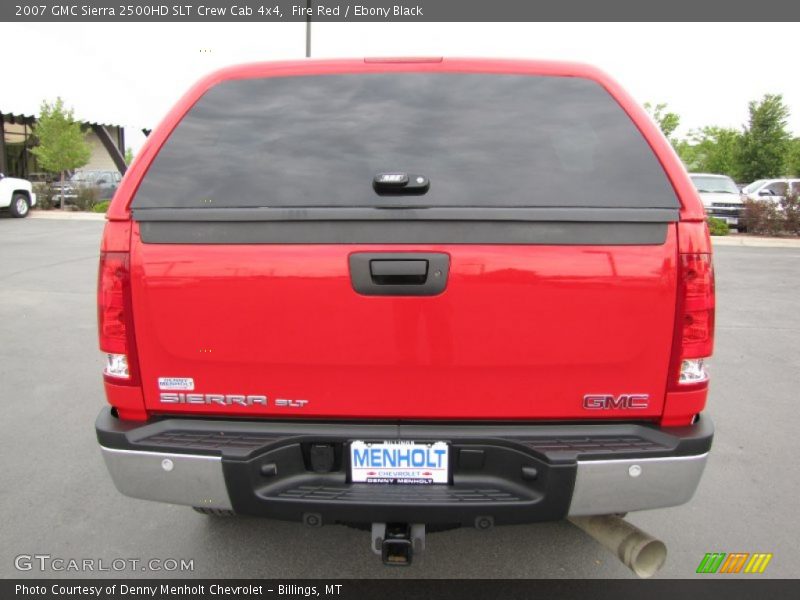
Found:
[[(121, 496), (93, 430), (105, 402), (95, 317), (102, 226), (0, 217), (0, 576), (82, 575), (17, 571), (20, 554), (193, 559), (193, 572), (171, 574), (192, 577), (632, 576), (568, 523), (434, 534), (412, 567), (390, 569), (365, 532), (208, 518)], [(693, 576), (712, 551), (771, 552), (755, 577), (796, 577), (800, 248), (719, 247), (715, 262), (714, 449), (691, 503), (630, 520), (666, 542), (661, 577)]]

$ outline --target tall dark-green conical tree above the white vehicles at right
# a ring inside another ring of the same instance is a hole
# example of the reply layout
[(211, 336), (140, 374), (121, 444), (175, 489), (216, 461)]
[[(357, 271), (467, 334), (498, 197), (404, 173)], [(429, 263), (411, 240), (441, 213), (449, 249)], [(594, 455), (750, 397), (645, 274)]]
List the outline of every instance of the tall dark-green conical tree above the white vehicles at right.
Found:
[(742, 179), (781, 177), (791, 143), (789, 108), (780, 94), (766, 94), (749, 104), (750, 120), (742, 134), (739, 162)]

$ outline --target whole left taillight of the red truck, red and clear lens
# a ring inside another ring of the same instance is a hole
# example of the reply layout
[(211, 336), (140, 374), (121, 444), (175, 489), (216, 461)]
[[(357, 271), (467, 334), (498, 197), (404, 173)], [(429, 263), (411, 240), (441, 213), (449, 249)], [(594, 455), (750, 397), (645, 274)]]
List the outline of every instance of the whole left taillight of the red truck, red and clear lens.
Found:
[(103, 374), (115, 383), (136, 383), (132, 355), (130, 263), (127, 252), (101, 252), (97, 280), (97, 328), (106, 354)]

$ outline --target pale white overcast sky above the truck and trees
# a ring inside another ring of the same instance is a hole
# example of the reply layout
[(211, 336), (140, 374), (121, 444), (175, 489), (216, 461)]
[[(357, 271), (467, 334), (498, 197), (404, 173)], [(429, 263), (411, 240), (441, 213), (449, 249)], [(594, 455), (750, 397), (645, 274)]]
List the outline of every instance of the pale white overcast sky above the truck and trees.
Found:
[[(593, 64), (641, 103), (666, 102), (679, 133), (741, 127), (783, 94), (800, 135), (794, 23), (314, 23), (312, 56), (470, 56)], [(759, 31), (769, 31), (768, 41)], [(0, 111), (61, 96), (82, 120), (121, 124), (134, 150), (192, 83), (231, 64), (300, 59), (305, 23), (0, 23)]]

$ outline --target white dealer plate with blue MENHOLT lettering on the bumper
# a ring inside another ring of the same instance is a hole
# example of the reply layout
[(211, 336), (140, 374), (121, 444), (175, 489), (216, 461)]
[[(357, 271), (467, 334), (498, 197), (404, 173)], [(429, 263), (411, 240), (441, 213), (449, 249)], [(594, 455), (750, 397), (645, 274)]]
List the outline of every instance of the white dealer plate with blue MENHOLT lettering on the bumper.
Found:
[(350, 443), (353, 483), (425, 485), (447, 483), (446, 442), (385, 441)]

